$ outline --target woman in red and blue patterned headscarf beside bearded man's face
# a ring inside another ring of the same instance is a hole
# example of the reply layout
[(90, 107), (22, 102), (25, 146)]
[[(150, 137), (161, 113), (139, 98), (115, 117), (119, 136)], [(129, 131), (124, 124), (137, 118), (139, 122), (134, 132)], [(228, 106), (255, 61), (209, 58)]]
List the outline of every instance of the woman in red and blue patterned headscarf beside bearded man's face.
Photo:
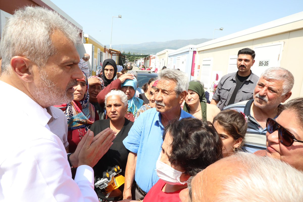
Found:
[(94, 121), (99, 120), (94, 105), (89, 102), (87, 77), (84, 73), (83, 76), (82, 79), (77, 79), (77, 85), (73, 87), (75, 89), (74, 99), (70, 103), (60, 106), (67, 118), (68, 150), (71, 153), (76, 150), (78, 143)]

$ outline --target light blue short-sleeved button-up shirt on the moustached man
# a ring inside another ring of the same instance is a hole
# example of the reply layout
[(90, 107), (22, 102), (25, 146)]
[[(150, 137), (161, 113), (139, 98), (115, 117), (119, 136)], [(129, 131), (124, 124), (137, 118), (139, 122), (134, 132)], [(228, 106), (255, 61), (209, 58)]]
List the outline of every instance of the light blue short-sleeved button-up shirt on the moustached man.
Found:
[[(187, 117), (192, 116), (181, 110), (180, 119)], [(161, 152), (163, 131), (161, 114), (156, 108), (151, 108), (140, 114), (123, 140), (129, 151), (137, 153), (135, 181), (146, 193), (159, 180), (156, 161)]]

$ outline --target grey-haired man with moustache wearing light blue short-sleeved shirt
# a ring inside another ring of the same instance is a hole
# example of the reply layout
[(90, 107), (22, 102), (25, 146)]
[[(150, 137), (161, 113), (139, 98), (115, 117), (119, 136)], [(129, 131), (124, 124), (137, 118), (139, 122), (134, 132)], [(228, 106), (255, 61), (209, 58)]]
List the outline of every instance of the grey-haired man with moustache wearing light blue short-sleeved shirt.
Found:
[[(181, 110), (188, 77), (176, 69), (162, 70), (155, 88), (155, 108), (143, 112), (123, 141), (130, 151), (125, 171), (124, 199), (143, 199), (158, 181), (156, 161), (163, 143), (162, 132), (168, 122), (191, 117)], [(135, 179), (135, 182), (134, 182)]]

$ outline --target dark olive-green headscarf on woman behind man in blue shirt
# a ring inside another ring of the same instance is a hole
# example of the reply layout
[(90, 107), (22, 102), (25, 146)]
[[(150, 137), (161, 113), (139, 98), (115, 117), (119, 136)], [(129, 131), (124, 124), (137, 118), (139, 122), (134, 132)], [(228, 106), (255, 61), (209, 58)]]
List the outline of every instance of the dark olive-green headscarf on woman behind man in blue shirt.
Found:
[[(199, 99), (200, 99), (200, 104), (201, 104), (202, 120), (207, 121), (207, 118), (206, 118), (207, 101), (205, 98), (204, 88), (197, 81), (189, 81), (188, 90), (192, 90), (192, 91), (195, 91), (196, 93), (198, 93)], [(188, 104), (184, 103), (183, 110), (188, 113), (190, 112)]]

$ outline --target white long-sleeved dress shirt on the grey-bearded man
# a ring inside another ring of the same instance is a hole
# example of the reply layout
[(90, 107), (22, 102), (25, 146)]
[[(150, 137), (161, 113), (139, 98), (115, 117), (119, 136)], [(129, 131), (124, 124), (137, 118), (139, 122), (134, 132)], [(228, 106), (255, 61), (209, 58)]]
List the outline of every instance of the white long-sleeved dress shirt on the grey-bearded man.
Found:
[(46, 109), (2, 81), (0, 94), (0, 201), (97, 202), (92, 168), (79, 166), (72, 179)]

